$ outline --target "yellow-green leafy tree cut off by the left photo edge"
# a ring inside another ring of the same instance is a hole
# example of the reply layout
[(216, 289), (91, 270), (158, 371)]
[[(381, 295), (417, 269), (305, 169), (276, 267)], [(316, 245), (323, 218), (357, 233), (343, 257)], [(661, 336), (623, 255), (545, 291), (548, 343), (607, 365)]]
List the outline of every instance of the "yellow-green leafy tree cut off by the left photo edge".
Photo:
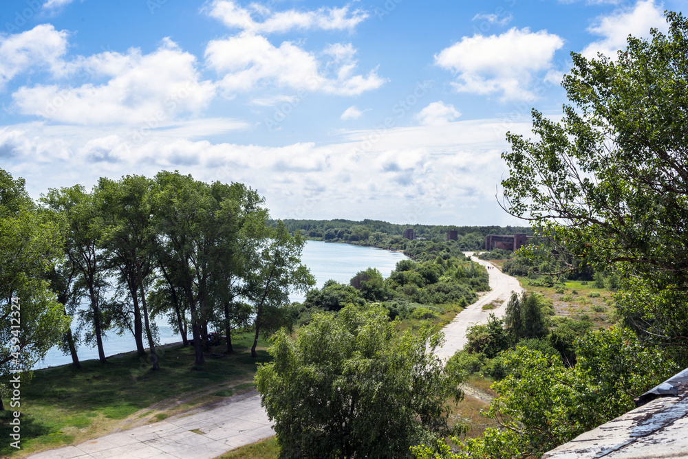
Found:
[[(24, 180), (0, 169), (0, 376), (28, 371), (69, 327), (45, 280), (62, 256), (60, 227), (39, 212)], [(0, 399), (0, 410), (4, 410)]]

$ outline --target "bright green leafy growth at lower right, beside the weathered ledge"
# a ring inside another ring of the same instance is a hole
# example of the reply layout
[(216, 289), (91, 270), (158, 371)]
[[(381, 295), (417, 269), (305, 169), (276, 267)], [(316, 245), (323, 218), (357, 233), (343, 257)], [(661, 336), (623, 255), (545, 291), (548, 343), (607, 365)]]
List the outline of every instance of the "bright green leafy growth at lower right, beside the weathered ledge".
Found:
[(632, 409), (635, 396), (680, 369), (657, 348), (647, 348), (628, 329), (590, 332), (577, 344), (578, 362), (569, 368), (559, 357), (518, 347), (506, 352), (508, 375), (497, 381), (497, 397), (486, 413), (499, 427), (479, 438), (453, 441), (461, 454), (418, 459), (539, 458), (585, 431)]

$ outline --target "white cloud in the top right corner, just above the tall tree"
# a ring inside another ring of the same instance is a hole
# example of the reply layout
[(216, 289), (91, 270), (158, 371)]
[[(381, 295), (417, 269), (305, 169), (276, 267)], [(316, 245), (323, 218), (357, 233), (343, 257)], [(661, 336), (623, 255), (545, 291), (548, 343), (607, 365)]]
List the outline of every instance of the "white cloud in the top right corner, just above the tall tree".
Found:
[(616, 52), (625, 49), (629, 35), (648, 38), (652, 27), (666, 33), (669, 26), (663, 9), (663, 5), (656, 5), (654, 0), (639, 0), (632, 8), (616, 10), (608, 16), (598, 16), (588, 27), (588, 32), (603, 38), (590, 43), (581, 54), (586, 58), (596, 58), (597, 53), (616, 58)]

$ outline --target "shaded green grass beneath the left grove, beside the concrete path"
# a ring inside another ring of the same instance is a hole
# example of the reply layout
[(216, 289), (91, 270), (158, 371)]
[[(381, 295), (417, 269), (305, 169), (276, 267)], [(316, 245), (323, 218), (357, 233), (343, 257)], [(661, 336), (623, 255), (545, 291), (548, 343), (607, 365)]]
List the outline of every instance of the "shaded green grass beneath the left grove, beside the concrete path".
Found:
[[(253, 388), (256, 364), (270, 357), (260, 348), (257, 359), (250, 356), (248, 333), (237, 333), (233, 344), (232, 355), (206, 356), (201, 366), (194, 365), (193, 348), (178, 346), (158, 350), (158, 371), (135, 354), (111, 358), (109, 363), (83, 361), (81, 370), (71, 365), (36, 370), (33, 379), (21, 385), (21, 450), (3, 441), (0, 457), (28, 456), (115, 428), (160, 421), (181, 410), (173, 401), (188, 401), (184, 407), (189, 408)], [(224, 352), (224, 346), (213, 352)], [(0, 412), (1, 438), (10, 438), (8, 414)]]

